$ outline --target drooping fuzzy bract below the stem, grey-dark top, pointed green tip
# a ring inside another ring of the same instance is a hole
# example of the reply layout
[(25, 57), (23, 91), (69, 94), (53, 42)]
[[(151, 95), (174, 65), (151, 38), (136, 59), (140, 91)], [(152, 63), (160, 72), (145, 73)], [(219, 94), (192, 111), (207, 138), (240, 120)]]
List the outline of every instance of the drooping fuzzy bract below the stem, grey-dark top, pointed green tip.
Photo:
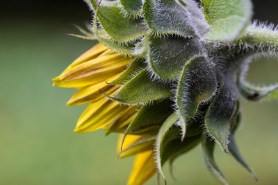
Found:
[(206, 131), (220, 144), (225, 152), (228, 148), (230, 121), (236, 108), (237, 99), (238, 94), (233, 82), (224, 82), (206, 113)]

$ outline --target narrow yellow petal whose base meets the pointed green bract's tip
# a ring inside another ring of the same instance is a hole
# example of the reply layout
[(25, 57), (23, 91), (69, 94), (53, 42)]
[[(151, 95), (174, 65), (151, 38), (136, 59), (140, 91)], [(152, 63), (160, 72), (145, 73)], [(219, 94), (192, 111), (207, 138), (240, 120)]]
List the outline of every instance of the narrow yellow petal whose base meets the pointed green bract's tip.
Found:
[(70, 98), (70, 100), (67, 102), (67, 105), (71, 106), (92, 103), (97, 100), (100, 100), (101, 98), (104, 98), (104, 94), (113, 94), (115, 91), (117, 91), (117, 89), (120, 88), (120, 86), (109, 85), (108, 83), (117, 79), (117, 77), (120, 76), (120, 74), (121, 73), (117, 73), (117, 75), (113, 76), (112, 78), (109, 78), (106, 81), (82, 87), (81, 89), (76, 91), (72, 98)]

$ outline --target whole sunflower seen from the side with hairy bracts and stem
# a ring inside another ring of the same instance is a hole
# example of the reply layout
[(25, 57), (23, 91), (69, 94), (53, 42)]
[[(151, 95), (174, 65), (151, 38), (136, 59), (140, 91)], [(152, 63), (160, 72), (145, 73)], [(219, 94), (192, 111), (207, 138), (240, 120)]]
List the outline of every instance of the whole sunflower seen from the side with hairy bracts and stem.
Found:
[[(277, 30), (250, 24), (249, 0), (86, 1), (94, 12), (83, 39), (92, 49), (54, 78), (78, 90), (67, 105), (89, 104), (74, 132), (120, 133), (118, 157), (136, 155), (127, 184), (143, 184), (162, 166), (202, 144), (211, 173), (227, 184), (215, 143), (256, 179), (237, 148), (240, 94), (278, 98), (278, 85), (245, 80), (252, 57), (276, 55)], [(224, 10), (224, 11), (223, 11)], [(249, 25), (249, 26), (248, 26)]]

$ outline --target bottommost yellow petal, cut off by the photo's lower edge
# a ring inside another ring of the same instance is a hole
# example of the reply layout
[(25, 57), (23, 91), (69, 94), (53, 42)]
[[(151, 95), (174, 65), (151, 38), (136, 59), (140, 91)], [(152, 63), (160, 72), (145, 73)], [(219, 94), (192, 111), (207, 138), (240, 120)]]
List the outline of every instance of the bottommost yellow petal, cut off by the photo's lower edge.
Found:
[(144, 184), (156, 173), (156, 163), (154, 161), (154, 151), (149, 150), (136, 155), (133, 163), (133, 170), (129, 176), (128, 185)]

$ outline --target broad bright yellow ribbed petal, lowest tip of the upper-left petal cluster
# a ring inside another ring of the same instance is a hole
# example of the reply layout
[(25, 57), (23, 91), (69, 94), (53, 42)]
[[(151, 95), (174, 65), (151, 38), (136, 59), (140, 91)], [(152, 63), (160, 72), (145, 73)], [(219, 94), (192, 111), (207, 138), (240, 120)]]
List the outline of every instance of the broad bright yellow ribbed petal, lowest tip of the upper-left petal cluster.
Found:
[(74, 132), (86, 133), (99, 130), (110, 124), (128, 106), (102, 98), (88, 106), (77, 121)]

